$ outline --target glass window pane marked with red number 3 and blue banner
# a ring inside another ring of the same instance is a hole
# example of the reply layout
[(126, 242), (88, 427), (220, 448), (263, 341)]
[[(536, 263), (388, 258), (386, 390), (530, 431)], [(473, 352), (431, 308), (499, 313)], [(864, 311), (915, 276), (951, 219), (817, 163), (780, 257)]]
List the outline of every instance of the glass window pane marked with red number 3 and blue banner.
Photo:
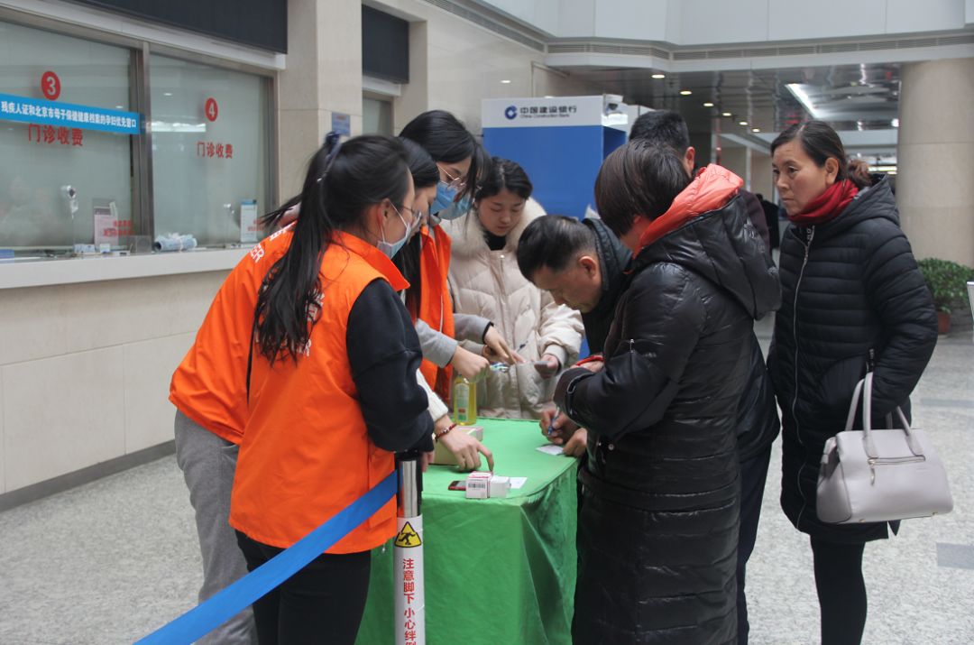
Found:
[(129, 78), (125, 48), (0, 22), (0, 256), (131, 235), (131, 135), (94, 123), (121, 124)]

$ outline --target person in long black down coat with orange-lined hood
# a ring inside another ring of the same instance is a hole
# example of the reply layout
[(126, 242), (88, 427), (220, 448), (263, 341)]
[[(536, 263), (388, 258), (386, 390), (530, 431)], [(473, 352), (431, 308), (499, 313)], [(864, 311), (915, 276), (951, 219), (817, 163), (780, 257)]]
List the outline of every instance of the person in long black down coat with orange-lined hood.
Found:
[(754, 319), (779, 302), (742, 183), (717, 166), (692, 181), (646, 141), (599, 172), (599, 212), (634, 259), (605, 362), (555, 395), (588, 429), (576, 643), (736, 642), (737, 404)]

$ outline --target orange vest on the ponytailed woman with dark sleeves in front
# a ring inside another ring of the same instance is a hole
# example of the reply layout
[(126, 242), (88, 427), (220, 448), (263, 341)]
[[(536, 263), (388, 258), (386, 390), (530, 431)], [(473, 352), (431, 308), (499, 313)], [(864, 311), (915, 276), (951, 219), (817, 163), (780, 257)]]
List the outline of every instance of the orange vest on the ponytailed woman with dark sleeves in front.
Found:
[[(287, 548), (393, 472), (393, 453), (369, 439), (349, 364), (349, 314), (366, 285), (408, 287), (382, 252), (339, 233), (320, 269), (321, 310), (295, 363), (254, 354), (230, 524), (257, 542)], [(404, 375), (404, 378), (408, 375)], [(415, 377), (414, 377), (415, 378)], [(370, 550), (395, 534), (395, 500), (327, 550)]]

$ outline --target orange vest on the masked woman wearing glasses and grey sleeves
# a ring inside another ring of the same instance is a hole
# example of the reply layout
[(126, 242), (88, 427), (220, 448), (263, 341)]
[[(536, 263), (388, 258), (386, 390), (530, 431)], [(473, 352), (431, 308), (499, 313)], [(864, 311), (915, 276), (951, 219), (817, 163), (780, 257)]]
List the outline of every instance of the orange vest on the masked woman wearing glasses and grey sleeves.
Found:
[[(454, 337), (453, 299), (450, 298), (448, 278), (450, 274), (450, 236), (439, 226), (424, 226), (423, 250), (420, 254), (420, 297), (418, 318), (432, 329)], [(439, 398), (449, 402), (453, 383), (453, 365), (440, 367), (431, 360), (424, 360), (420, 372)]]

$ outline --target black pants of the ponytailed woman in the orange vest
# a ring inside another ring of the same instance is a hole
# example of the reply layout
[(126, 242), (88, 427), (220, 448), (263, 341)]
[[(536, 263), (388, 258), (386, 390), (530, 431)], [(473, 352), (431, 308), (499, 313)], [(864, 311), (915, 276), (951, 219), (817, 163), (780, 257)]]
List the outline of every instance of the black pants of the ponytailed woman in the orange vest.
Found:
[[(240, 531), (237, 544), (249, 571), (282, 550)], [(353, 645), (365, 610), (371, 562), (369, 551), (323, 553), (253, 603), (260, 645)]]

